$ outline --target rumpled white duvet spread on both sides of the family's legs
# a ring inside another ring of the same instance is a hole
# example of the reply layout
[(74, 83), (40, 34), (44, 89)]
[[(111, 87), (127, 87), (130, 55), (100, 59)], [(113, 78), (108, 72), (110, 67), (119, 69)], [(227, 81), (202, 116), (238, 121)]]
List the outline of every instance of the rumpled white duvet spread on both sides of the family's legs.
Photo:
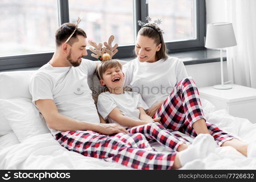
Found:
[[(206, 117), (212, 124), (239, 137), (242, 141), (256, 142), (256, 124), (247, 119), (230, 116), (225, 110), (213, 111), (207, 106), (204, 110), (210, 112)], [(4, 139), (3, 137), (0, 138), (0, 169), (131, 169), (68, 151), (50, 134), (37, 135), (22, 143), (12, 138), (15, 135)], [(185, 137), (192, 141), (192, 138)], [(152, 145), (158, 151), (167, 151), (157, 142)], [(205, 169), (256, 169), (256, 158), (246, 158), (232, 147), (217, 147), (212, 152), (202, 160)]]

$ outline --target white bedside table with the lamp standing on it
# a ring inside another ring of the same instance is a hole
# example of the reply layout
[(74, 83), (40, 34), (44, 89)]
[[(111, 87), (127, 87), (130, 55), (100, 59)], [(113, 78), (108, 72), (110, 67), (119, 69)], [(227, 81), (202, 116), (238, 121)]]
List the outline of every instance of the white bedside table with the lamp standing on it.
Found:
[(231, 116), (256, 123), (256, 89), (230, 85), (233, 88), (228, 90), (218, 90), (213, 86), (198, 88), (200, 98), (210, 101), (217, 110), (225, 109)]

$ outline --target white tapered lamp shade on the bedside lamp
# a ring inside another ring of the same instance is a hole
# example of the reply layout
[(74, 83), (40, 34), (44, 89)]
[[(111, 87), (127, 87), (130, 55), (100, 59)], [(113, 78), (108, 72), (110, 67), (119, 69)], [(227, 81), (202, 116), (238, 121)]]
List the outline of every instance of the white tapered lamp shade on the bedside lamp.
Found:
[(206, 48), (224, 48), (236, 46), (236, 37), (232, 23), (210, 23), (206, 31)]

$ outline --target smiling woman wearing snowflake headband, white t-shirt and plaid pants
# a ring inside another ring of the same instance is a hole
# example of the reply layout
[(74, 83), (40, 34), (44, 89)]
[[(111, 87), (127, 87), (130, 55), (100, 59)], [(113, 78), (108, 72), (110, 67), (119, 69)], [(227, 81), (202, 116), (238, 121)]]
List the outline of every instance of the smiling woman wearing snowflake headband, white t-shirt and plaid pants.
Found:
[[(145, 24), (138, 32), (135, 45), (137, 58), (123, 66), (124, 86), (142, 95), (147, 114), (161, 117), (169, 131), (180, 131), (191, 137), (211, 134), (219, 146), (234, 147), (241, 154), (256, 157), (256, 144), (244, 143), (210, 124), (204, 118), (195, 82), (188, 78), (181, 60), (167, 55), (161, 29)], [(182, 144), (178, 151), (187, 149)]]

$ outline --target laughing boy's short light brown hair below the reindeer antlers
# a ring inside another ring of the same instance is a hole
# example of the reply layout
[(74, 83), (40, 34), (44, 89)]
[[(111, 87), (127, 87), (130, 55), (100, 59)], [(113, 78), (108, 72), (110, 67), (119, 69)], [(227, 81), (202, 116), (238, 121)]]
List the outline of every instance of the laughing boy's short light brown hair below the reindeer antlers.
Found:
[(96, 71), (98, 79), (102, 79), (102, 75), (108, 70), (108, 68), (113, 68), (117, 66), (120, 68), (120, 70), (122, 70), (122, 65), (116, 59), (110, 59), (99, 63)]

